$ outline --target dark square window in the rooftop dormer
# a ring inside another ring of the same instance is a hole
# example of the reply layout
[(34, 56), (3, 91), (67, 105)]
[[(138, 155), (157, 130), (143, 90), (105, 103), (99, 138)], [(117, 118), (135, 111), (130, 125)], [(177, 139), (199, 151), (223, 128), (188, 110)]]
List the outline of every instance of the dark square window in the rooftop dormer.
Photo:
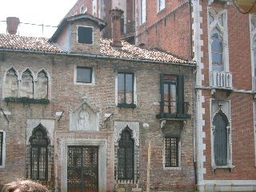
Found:
[(92, 26), (78, 26), (78, 43), (93, 44)]

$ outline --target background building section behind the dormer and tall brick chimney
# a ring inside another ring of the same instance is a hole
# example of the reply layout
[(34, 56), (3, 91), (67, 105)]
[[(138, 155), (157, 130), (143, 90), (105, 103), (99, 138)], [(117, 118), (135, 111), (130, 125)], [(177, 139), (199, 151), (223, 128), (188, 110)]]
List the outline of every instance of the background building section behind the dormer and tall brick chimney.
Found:
[(102, 38), (112, 38), (110, 10), (116, 7), (124, 11), (120, 26), (122, 39), (134, 44), (134, 0), (78, 0), (66, 16), (88, 13), (101, 18), (107, 22), (107, 26), (102, 30)]

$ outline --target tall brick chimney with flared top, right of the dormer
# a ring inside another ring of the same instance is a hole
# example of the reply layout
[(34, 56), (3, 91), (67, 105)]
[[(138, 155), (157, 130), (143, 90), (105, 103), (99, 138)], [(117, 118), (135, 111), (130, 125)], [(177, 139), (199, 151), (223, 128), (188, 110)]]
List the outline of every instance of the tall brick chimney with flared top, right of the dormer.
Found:
[(121, 16), (123, 14), (123, 10), (115, 8), (110, 10), (110, 16), (112, 20), (112, 38), (113, 43), (111, 46), (114, 47), (122, 47), (121, 42)]

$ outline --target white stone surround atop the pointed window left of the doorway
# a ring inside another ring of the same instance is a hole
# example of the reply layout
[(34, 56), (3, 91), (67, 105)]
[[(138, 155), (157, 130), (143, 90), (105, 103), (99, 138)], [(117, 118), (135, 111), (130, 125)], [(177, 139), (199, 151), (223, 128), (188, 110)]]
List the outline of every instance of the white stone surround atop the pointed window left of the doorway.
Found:
[(30, 145), (30, 137), (35, 127), (40, 124), (46, 129), (50, 138), (50, 146), (54, 146), (54, 120), (53, 119), (26, 119), (26, 145)]

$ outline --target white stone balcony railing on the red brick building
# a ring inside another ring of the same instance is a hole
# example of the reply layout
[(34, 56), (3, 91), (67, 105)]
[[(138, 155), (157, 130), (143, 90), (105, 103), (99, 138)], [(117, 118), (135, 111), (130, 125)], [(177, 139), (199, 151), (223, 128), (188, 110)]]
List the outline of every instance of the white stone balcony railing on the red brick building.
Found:
[(210, 72), (210, 86), (232, 88), (232, 74), (230, 72)]

